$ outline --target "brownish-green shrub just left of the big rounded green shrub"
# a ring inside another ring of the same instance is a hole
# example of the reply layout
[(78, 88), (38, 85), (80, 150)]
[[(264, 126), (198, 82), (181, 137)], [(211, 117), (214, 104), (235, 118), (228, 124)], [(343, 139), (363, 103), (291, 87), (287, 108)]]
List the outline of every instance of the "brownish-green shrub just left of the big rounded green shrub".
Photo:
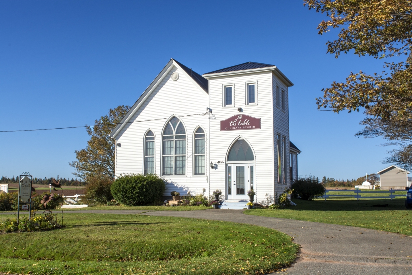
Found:
[(87, 180), (82, 203), (107, 204), (113, 199), (110, 190), (113, 181), (108, 177), (93, 177)]

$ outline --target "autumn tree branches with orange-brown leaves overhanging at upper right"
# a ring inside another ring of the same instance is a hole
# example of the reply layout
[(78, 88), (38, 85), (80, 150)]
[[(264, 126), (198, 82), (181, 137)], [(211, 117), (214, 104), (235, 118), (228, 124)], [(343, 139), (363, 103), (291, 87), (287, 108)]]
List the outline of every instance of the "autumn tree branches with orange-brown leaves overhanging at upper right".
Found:
[(382, 73), (351, 73), (345, 82), (333, 82), (316, 99), (318, 108), (335, 113), (364, 110), (365, 128), (356, 135), (380, 136), (398, 144), (385, 162), (412, 168), (412, 1), (410, 0), (304, 0), (304, 5), (325, 13), (329, 20), (318, 25), (319, 34), (341, 28), (328, 41), (328, 51), (366, 54), (375, 58), (407, 55), (405, 62), (386, 62)]

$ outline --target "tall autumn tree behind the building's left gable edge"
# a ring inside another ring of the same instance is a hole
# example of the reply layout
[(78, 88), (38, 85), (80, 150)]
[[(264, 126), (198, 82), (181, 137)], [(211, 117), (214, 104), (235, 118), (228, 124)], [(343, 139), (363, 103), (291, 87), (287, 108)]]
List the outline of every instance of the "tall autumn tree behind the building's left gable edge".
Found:
[(116, 141), (109, 134), (129, 109), (130, 106), (123, 105), (110, 109), (94, 125), (86, 127), (90, 139), (85, 149), (75, 150), (77, 160), (69, 163), (76, 170), (73, 174), (85, 181), (96, 176), (115, 178)]

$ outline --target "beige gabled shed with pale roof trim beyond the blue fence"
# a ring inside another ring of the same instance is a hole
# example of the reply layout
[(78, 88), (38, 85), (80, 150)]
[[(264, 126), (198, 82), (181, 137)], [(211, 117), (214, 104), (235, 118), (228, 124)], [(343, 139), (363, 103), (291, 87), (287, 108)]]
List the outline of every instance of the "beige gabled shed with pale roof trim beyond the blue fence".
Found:
[(381, 190), (405, 189), (408, 185), (409, 171), (391, 165), (379, 171)]

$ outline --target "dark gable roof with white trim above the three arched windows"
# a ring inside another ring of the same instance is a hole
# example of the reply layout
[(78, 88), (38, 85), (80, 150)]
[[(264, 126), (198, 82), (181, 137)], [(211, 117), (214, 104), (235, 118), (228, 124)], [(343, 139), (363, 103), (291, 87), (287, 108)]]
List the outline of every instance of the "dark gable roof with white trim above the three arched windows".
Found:
[[(195, 85), (199, 90), (202, 92), (206, 92), (208, 94), (208, 83), (209, 81), (203, 78), (198, 73), (192, 71), (192, 69), (187, 68), (182, 63), (174, 60), (171, 58), (169, 62), (164, 66), (163, 70), (156, 76), (155, 80), (150, 83), (149, 87), (145, 89), (143, 94), (138, 98), (138, 100), (133, 104), (130, 110), (124, 115), (122, 120), (116, 125), (116, 127), (110, 132), (110, 136), (115, 138), (115, 136), (123, 129), (123, 127), (128, 124), (129, 120), (133, 117), (139, 107), (143, 104), (145, 99), (153, 92), (154, 89), (162, 82), (162, 80), (166, 77), (166, 75), (170, 72), (170, 70), (176, 67), (183, 71), (183, 73), (187, 76), (189, 80), (192, 80), (193, 85)], [(203, 78), (203, 80), (202, 80)]]

